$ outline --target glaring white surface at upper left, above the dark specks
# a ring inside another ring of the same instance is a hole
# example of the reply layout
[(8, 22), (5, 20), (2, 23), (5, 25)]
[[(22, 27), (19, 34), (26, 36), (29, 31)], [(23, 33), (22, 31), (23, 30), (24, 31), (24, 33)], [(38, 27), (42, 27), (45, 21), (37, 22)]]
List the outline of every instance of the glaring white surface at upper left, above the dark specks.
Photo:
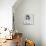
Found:
[(0, 0), (0, 27), (12, 28), (12, 6), (16, 0)]

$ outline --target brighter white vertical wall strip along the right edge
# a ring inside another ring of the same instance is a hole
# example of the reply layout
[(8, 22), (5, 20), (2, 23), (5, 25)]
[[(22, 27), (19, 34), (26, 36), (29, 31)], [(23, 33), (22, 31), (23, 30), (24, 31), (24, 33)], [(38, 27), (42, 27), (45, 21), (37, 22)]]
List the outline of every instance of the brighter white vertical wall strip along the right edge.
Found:
[(42, 0), (41, 4), (41, 39), (42, 46), (46, 46), (46, 0)]

